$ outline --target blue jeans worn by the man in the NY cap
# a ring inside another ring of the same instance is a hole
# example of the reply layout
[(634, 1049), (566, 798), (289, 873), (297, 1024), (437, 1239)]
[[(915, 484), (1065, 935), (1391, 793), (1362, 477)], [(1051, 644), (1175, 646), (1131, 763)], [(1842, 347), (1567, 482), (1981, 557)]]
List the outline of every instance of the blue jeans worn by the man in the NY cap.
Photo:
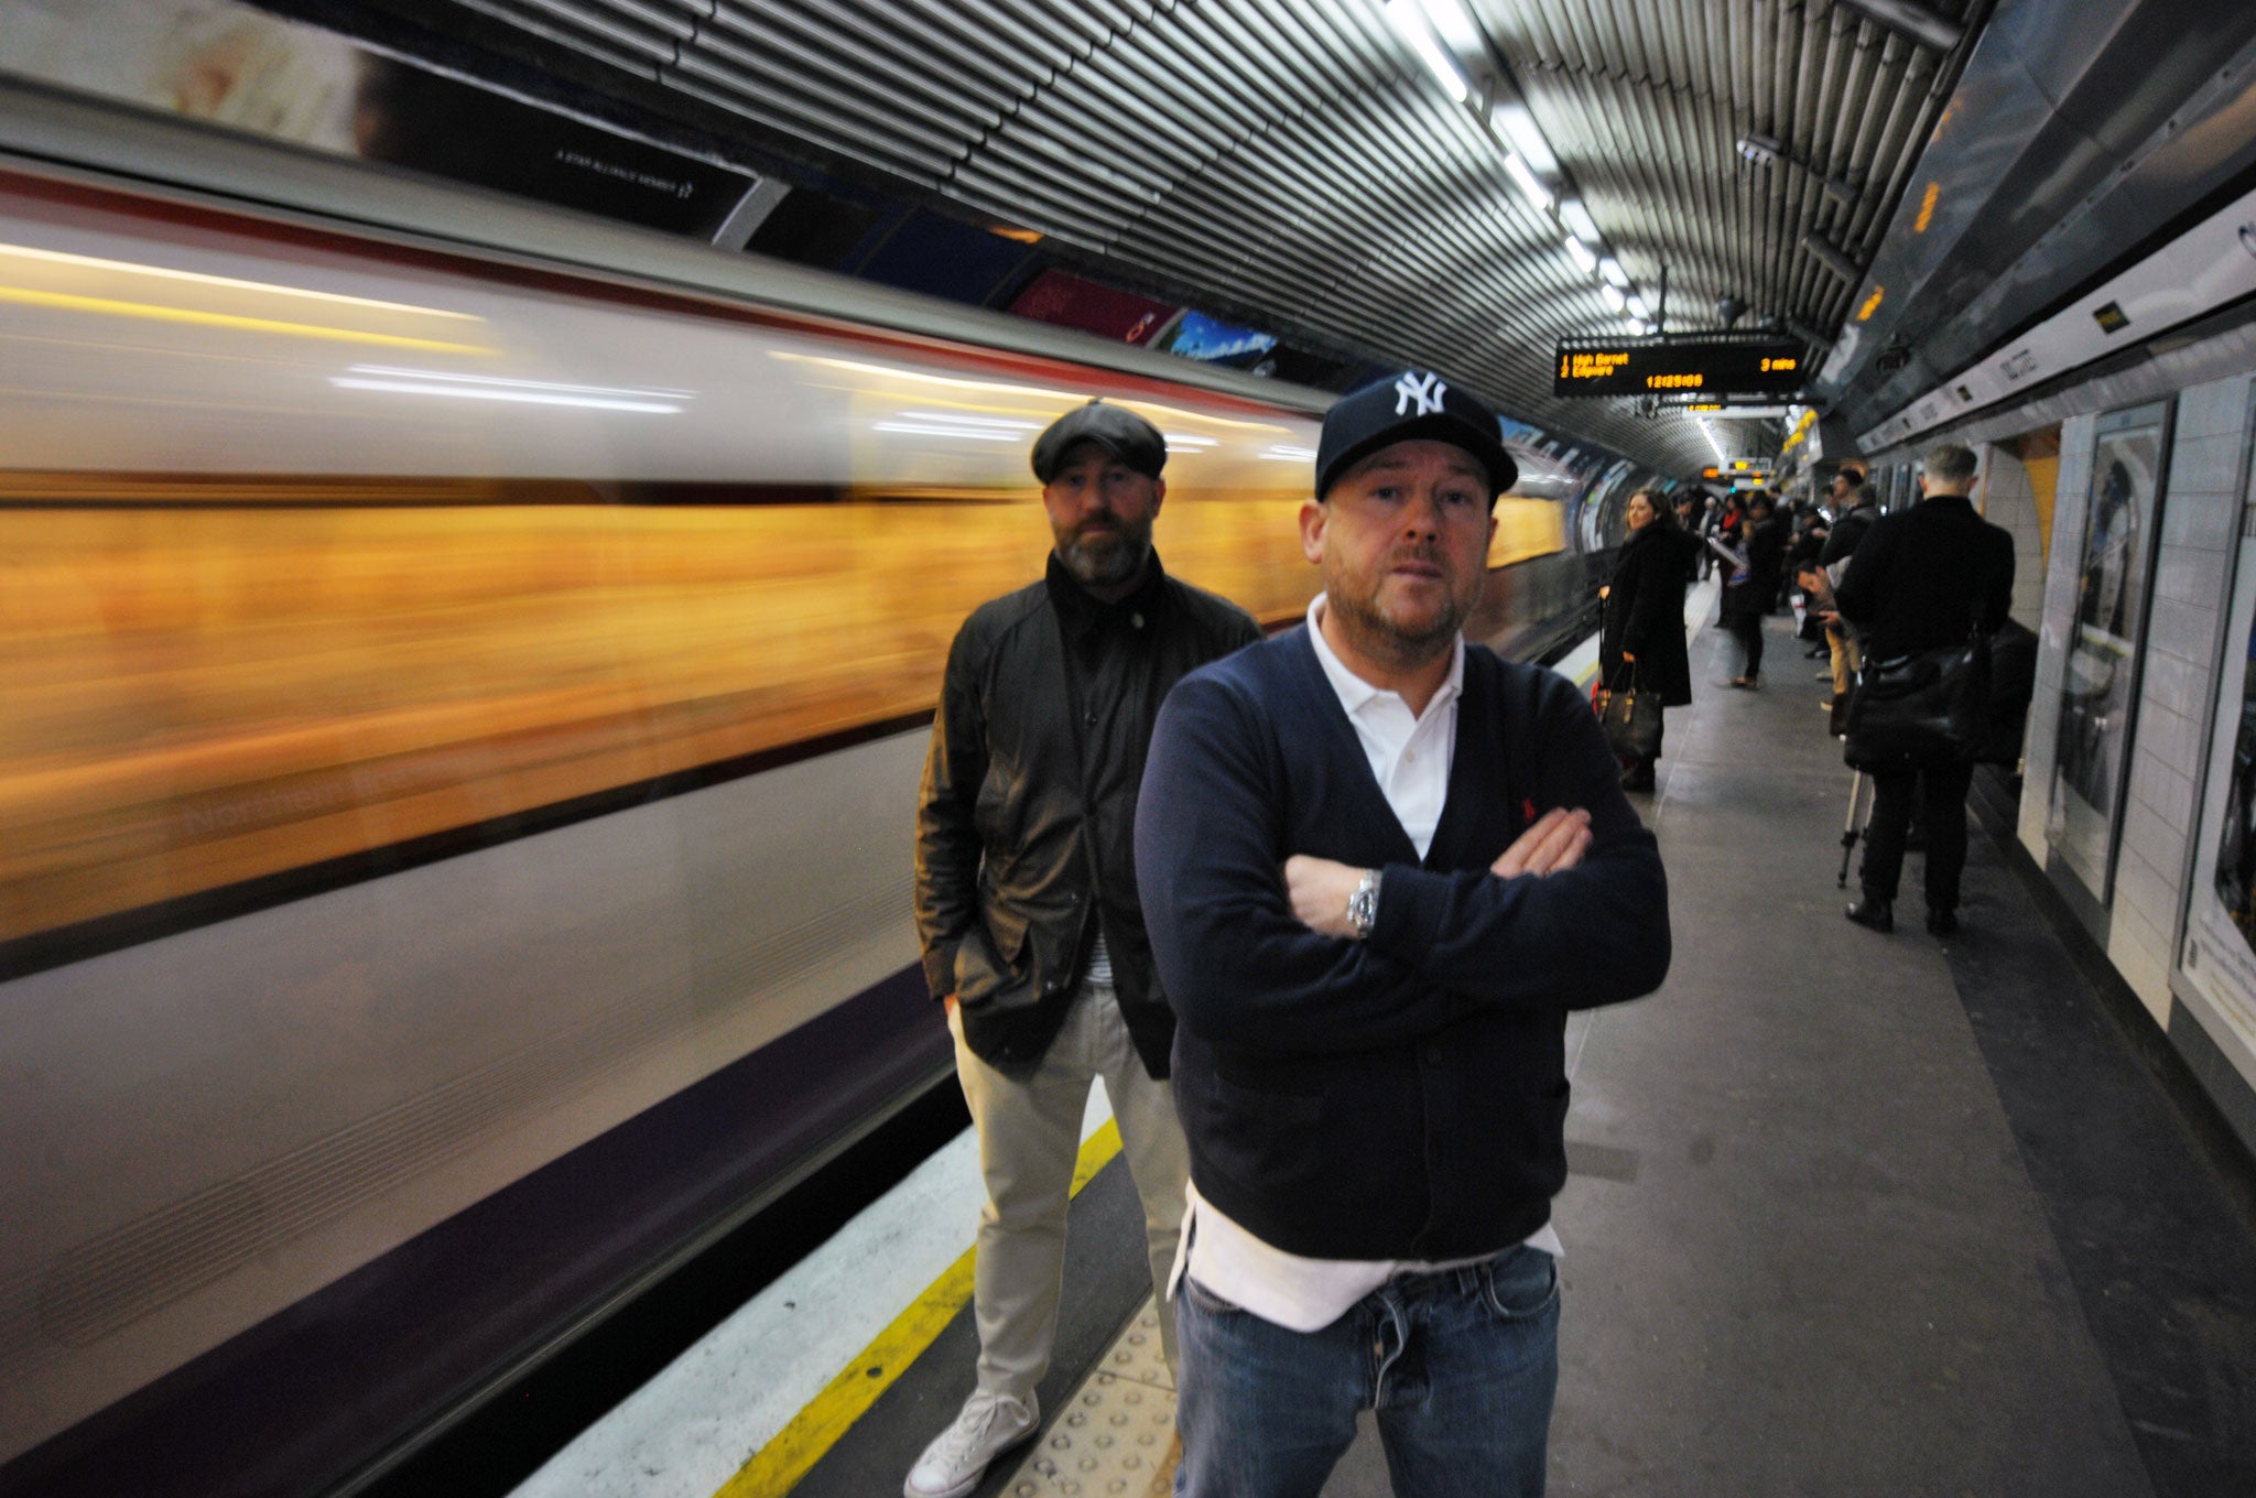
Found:
[(1315, 1498), (1376, 1410), (1396, 1498), (1541, 1498), (1559, 1390), (1559, 1270), (1516, 1245), (1399, 1275), (1322, 1331), (1286, 1331), (1189, 1275), (1175, 1498)]

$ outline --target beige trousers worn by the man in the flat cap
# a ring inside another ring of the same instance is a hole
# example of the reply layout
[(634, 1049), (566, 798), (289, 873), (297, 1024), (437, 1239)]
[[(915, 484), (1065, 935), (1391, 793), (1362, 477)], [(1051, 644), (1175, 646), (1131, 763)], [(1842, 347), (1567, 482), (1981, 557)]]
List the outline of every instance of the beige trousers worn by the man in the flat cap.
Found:
[(979, 1130), (979, 1171), (988, 1189), (972, 1270), (979, 1387), (1026, 1399), (1049, 1372), (1065, 1281), (1065, 1207), (1090, 1081), (1099, 1076), (1119, 1121), (1128, 1175), (1144, 1198), (1160, 1340), (1173, 1369), (1175, 1313), (1166, 1304), (1166, 1277), (1175, 1266), (1191, 1157), (1175, 1121), (1175, 1094), (1144, 1069), (1112, 990), (1087, 984), (1074, 995), (1065, 1029), (1024, 1081), (972, 1056), (957, 1015), (948, 1029), (957, 1038), (957, 1078)]

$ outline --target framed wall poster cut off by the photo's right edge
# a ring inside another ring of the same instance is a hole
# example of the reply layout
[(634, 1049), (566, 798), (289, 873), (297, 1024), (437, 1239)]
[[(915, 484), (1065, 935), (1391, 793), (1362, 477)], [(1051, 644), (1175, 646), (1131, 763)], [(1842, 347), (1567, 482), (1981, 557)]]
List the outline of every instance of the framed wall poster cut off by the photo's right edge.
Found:
[[(2256, 422), (2256, 402), (2249, 406)], [(2240, 505), (2256, 492), (2256, 426)], [(2242, 519), (2170, 990), (2256, 1087), (2256, 537)]]

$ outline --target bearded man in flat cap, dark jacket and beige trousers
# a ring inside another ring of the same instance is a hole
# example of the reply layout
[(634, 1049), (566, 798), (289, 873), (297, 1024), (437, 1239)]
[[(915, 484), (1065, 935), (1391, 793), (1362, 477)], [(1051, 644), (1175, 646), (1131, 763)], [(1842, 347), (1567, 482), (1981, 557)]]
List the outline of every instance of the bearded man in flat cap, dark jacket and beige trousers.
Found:
[[(1155, 1286), (1175, 1257), (1189, 1166), (1166, 1083), (1175, 1015), (1135, 893), (1135, 799), (1169, 688), (1261, 629), (1162, 571), (1164, 465), (1166, 440), (1123, 406), (1051, 422), (1033, 442), (1049, 573), (975, 609), (948, 652), (918, 796), (916, 929), (988, 1205), (979, 1387), (909, 1471), (909, 1498), (968, 1493), (1038, 1428), (1094, 1076), (1144, 1198)], [(1173, 1365), (1164, 1304), (1160, 1329)]]

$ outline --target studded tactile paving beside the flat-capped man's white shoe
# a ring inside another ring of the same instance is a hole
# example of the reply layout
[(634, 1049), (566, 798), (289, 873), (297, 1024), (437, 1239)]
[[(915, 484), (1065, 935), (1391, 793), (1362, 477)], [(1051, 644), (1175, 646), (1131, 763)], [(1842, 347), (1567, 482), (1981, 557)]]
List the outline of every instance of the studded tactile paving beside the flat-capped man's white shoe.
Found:
[(1175, 1489), (1175, 1381), (1144, 1302), (1004, 1484), (1008, 1498), (1166, 1498)]

